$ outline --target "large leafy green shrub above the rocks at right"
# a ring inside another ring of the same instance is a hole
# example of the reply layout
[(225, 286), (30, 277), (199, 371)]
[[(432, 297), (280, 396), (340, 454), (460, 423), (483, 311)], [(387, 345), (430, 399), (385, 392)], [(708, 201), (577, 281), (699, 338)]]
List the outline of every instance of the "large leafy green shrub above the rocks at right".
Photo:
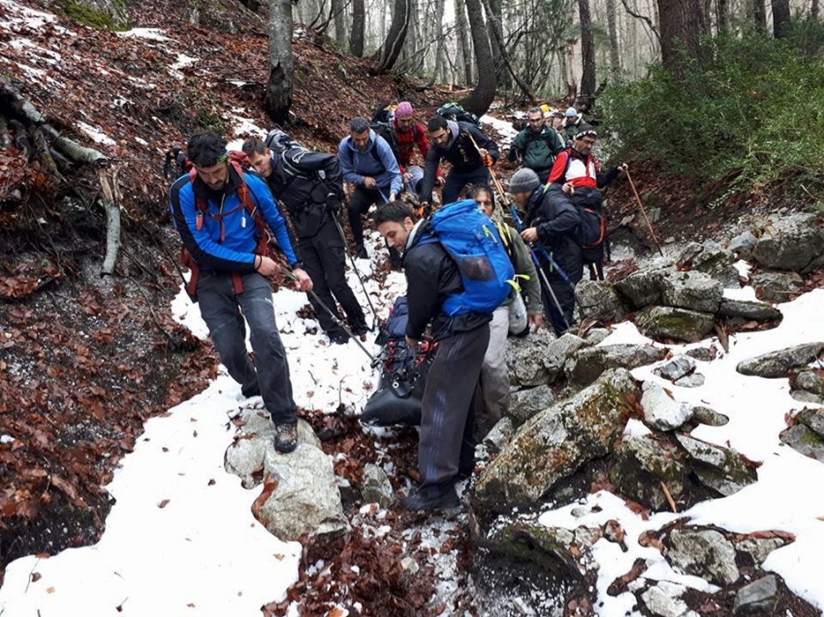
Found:
[[(775, 40), (758, 33), (708, 40), (681, 81), (660, 66), (604, 93), (618, 157), (737, 189), (801, 180), (824, 184), (822, 30)], [(811, 53), (812, 52), (812, 53)]]

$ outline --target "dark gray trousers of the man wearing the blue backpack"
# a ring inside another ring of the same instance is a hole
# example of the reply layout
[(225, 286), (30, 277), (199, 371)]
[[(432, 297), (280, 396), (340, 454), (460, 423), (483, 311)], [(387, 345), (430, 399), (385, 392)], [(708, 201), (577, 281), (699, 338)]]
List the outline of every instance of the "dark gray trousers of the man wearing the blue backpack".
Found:
[(421, 488), (455, 481), (475, 466), (475, 387), (489, 344), (489, 326), (438, 342), (421, 402), (418, 470)]

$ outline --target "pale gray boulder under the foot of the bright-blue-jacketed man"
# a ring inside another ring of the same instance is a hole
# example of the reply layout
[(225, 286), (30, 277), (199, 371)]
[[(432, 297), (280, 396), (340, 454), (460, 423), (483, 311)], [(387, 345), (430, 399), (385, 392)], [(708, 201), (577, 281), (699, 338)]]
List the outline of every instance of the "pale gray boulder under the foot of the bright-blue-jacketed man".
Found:
[[(245, 414), (243, 434), (226, 452), (225, 466), (250, 488), (262, 477), (265, 489), (253, 511), (281, 540), (301, 535), (335, 537), (349, 531), (332, 462), (309, 424), (297, 421), (297, 448), (274, 450), (274, 425), (263, 414)], [(268, 414), (266, 414), (268, 415)], [(262, 473), (261, 473), (262, 472)]]

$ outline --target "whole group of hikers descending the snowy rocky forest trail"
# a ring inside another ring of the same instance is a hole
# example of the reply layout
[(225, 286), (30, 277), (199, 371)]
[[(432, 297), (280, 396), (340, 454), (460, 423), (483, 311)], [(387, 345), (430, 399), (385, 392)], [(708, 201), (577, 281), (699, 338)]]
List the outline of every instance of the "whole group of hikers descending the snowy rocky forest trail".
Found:
[[(620, 171), (601, 170), (592, 154), (597, 133), (573, 108), (556, 117), (535, 107), (509, 149), (509, 159), (522, 165), (509, 181), (509, 203), (492, 170), (498, 145), (459, 106), (446, 107), (451, 113), (442, 108), (425, 126), (408, 101), (378, 119), (354, 118), (337, 156), (311, 152), (280, 130), (247, 139), (242, 152), (228, 151), (215, 133), (196, 133), (185, 149), (190, 171), (169, 189), (184, 263), (192, 269), (190, 295), (242, 394), (263, 398), (282, 453), (297, 446), (297, 406), (267, 279), (280, 267), (266, 228), (288, 263), (284, 273), (307, 292), (330, 342), (345, 344), (365, 340), (369, 329), (345, 278), (339, 213), (345, 204), (354, 265), (368, 258), (364, 218), (377, 207), (372, 224), (392, 268), (403, 269), (407, 281), (405, 344), (415, 349), (426, 339), (435, 349), (421, 401), (420, 484), (401, 500), (420, 511), (457, 505), (454, 485), (474, 470), (476, 437), (506, 409), (508, 334), (527, 335), (545, 318), (557, 335), (575, 325), (574, 287), (585, 261), (592, 278), (603, 277), (603, 238), (588, 245), (586, 230), (600, 226), (603, 235), (598, 189)], [(450, 164), (446, 175), (442, 161)], [(436, 187), (440, 208), (433, 204)], [(501, 212), (501, 202), (509, 212)], [(469, 268), (439, 227), (455, 204), (465, 208), (458, 227), (479, 230), (491, 251)], [(503, 291), (494, 301), (476, 302), (475, 288), (489, 283), (490, 269)]]

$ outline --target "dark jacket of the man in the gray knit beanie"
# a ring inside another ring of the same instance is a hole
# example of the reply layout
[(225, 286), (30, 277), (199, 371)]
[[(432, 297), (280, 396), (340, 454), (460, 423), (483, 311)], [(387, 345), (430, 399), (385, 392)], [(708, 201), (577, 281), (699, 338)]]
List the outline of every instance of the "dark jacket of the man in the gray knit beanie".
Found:
[[(532, 193), (524, 227), (536, 227), (538, 241), (573, 283), (583, 277), (580, 224), (578, 210), (559, 185), (550, 185), (546, 190), (539, 186)], [(538, 255), (547, 278), (562, 279), (542, 252), (538, 250)]]

